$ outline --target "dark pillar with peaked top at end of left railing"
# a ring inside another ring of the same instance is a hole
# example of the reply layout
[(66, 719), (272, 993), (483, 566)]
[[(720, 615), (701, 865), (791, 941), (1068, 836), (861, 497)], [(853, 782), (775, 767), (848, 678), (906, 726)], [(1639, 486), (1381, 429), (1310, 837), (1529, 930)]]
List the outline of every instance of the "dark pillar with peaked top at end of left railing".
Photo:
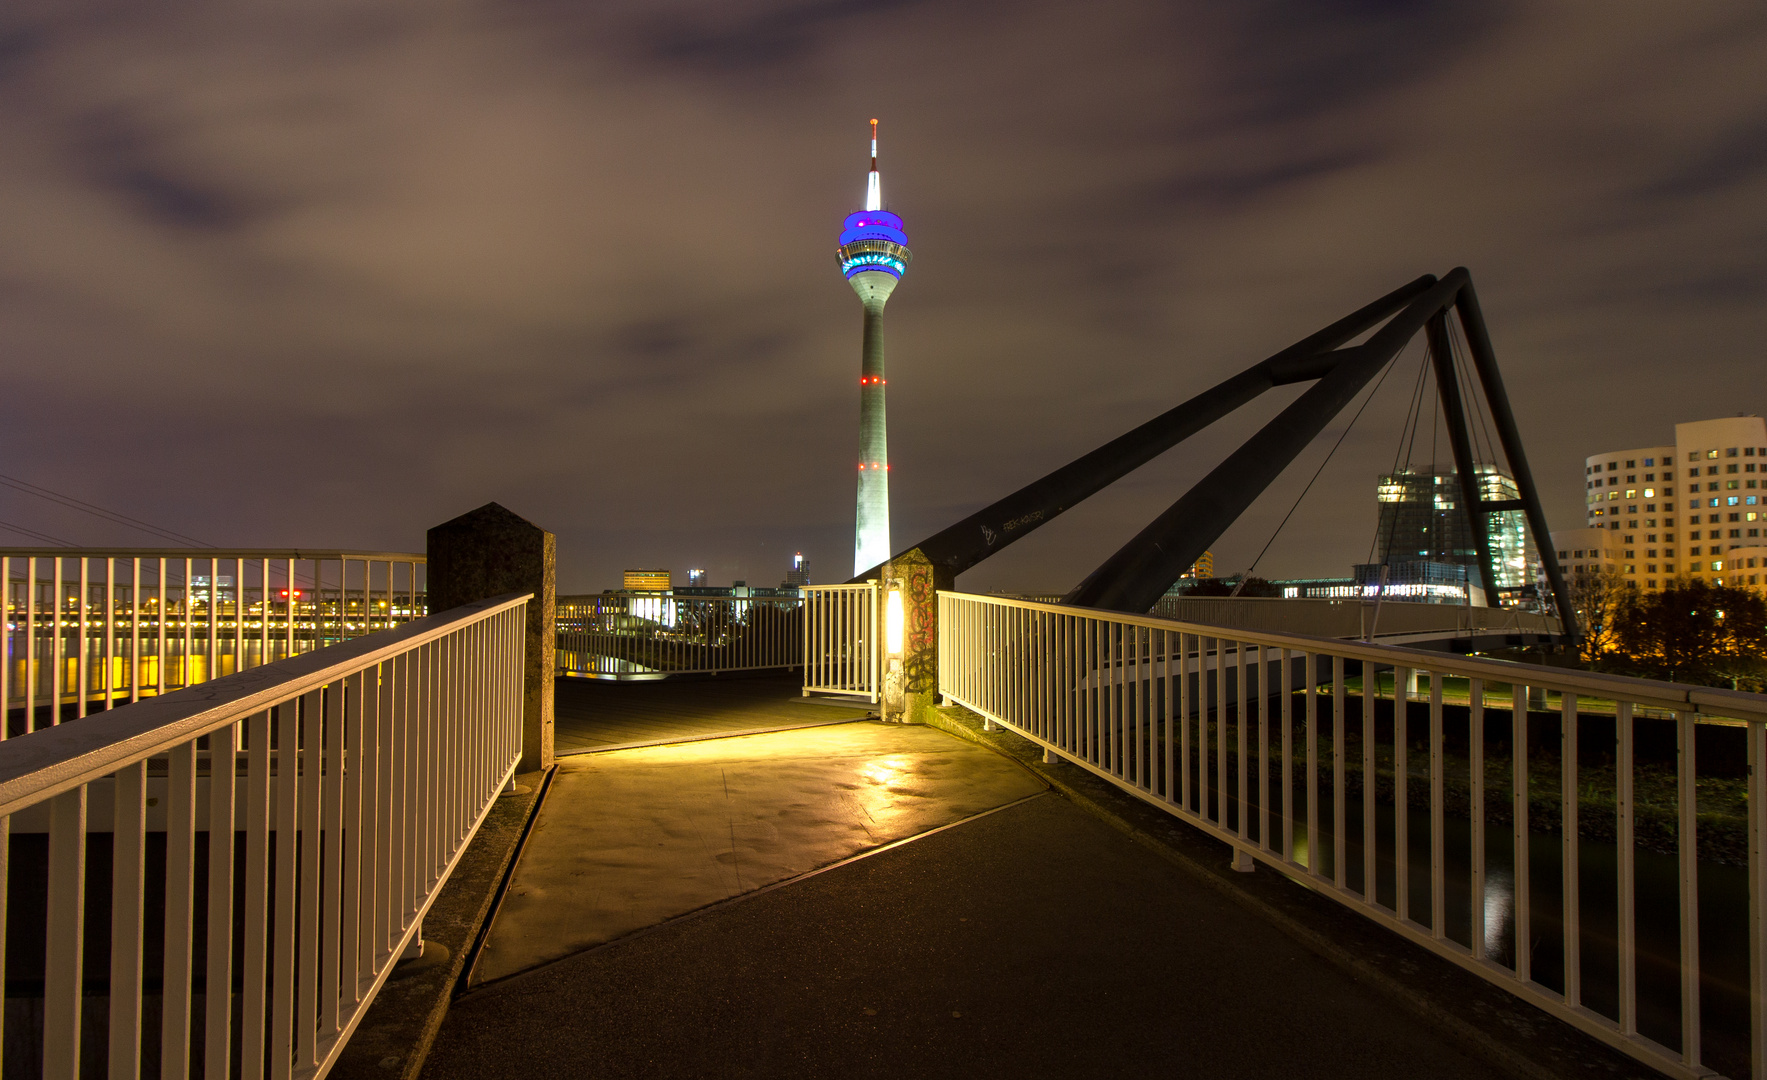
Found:
[(495, 502), (429, 530), (429, 612), (532, 592), (521, 673), (521, 764), (553, 764), (553, 631), (558, 617), (557, 537)]

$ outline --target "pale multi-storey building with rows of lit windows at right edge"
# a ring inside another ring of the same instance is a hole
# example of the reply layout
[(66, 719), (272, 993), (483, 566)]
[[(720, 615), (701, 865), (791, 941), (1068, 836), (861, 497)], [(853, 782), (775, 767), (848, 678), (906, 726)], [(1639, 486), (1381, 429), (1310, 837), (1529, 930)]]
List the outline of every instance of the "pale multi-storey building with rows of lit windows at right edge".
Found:
[(1767, 422), (1693, 421), (1675, 424), (1673, 445), (1592, 454), (1583, 460), (1583, 504), (1585, 527), (1617, 532), (1617, 543), (1558, 543), (1555, 532), (1555, 546), (1619, 551), (1615, 564), (1638, 589), (1675, 578), (1749, 583), (1744, 551), (1767, 539)]

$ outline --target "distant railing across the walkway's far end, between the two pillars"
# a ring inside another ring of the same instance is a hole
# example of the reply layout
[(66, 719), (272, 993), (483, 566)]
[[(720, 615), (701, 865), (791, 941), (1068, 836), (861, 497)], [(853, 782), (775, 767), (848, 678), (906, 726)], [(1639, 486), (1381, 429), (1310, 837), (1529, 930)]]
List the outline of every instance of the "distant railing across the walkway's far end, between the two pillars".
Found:
[(558, 672), (617, 679), (795, 668), (797, 606), (795, 596), (560, 596)]

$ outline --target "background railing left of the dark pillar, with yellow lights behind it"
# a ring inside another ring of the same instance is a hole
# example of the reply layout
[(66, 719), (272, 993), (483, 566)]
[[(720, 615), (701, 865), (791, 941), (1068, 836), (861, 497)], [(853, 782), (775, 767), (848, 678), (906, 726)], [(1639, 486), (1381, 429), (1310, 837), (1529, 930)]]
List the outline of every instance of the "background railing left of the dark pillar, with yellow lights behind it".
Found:
[(424, 555), (0, 548), (11, 734), (389, 629), (424, 613)]

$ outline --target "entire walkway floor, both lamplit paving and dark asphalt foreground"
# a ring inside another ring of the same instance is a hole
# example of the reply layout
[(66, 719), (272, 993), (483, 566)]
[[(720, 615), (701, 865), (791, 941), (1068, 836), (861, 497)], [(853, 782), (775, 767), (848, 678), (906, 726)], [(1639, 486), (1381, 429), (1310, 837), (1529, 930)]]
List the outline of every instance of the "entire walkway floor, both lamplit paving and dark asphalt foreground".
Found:
[(424, 1066), (1150, 1071), (1504, 1075), (1020, 762), (873, 721), (560, 764)]

